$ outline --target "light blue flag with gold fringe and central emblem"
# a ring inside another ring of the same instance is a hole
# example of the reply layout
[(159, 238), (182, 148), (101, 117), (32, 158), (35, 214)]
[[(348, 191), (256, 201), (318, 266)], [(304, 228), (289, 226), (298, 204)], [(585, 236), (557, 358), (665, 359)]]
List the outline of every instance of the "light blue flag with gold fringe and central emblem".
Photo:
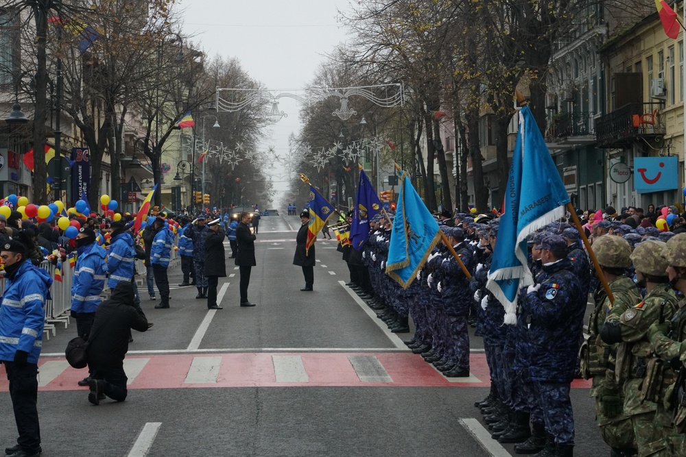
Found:
[(438, 222), (403, 173), (386, 265), (386, 273), (403, 288), (412, 284), (436, 247), (439, 230)]

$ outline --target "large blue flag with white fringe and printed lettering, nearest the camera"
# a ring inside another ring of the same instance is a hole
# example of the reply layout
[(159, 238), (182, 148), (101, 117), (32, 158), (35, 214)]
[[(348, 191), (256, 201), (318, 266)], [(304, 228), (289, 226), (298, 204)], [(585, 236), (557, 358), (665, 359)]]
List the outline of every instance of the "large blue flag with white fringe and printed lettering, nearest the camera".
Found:
[(519, 132), (505, 193), (505, 212), (486, 288), (505, 307), (505, 323), (517, 322), (517, 293), (533, 284), (526, 237), (565, 216), (569, 195), (528, 106), (519, 111)]

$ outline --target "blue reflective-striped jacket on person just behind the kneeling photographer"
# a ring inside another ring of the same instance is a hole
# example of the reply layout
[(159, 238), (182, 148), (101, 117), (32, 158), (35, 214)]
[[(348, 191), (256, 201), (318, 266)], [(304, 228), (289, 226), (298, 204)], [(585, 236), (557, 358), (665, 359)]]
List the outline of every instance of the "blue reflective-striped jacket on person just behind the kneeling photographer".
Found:
[(102, 299), (105, 287), (105, 248), (93, 243), (78, 249), (76, 267), (71, 283), (71, 310), (74, 312), (95, 312)]

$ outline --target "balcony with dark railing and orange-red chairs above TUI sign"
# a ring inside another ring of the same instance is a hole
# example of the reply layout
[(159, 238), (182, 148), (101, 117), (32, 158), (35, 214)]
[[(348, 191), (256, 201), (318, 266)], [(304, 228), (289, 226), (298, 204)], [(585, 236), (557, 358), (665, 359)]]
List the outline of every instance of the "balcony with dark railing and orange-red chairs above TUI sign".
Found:
[(598, 147), (626, 148), (665, 135), (660, 103), (628, 103), (595, 120)]

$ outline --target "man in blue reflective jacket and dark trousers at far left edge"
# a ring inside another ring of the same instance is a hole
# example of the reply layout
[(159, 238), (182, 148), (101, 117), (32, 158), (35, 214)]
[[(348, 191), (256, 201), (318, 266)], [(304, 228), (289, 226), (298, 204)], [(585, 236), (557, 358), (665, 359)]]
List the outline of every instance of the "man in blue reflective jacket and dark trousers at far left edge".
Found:
[(5, 449), (12, 457), (38, 457), (38, 356), (43, 342), (45, 297), (52, 278), (26, 259), (26, 246), (15, 237), (0, 252), (5, 267), (5, 291), (0, 306), (0, 362), (10, 382), (10, 399), (19, 432), (16, 445)]

